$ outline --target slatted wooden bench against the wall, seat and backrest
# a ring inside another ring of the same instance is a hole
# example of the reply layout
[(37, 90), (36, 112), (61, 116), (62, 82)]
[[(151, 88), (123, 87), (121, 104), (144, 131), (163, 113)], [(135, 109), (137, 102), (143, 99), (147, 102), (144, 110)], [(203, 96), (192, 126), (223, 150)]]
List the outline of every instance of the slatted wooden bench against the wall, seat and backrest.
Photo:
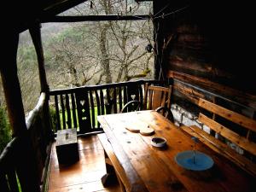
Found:
[[(207, 115), (199, 113), (198, 120), (202, 124), (207, 125), (211, 131), (216, 132), (222, 137), (222, 139), (219, 140), (195, 125), (182, 125), (181, 127), (183, 131), (188, 132), (194, 137), (199, 137), (202, 143), (206, 143), (208, 147), (217, 151), (219, 154), (223, 154), (224, 156), (228, 157), (230, 160), (235, 162), (236, 165), (241, 166), (241, 168), (253, 174), (253, 176), (256, 176), (256, 164), (247, 159), (244, 155), (238, 154), (236, 150), (230, 148), (230, 146), (227, 144), (227, 141), (230, 141), (230, 143), (234, 143), (239, 148), (247, 151), (248, 154), (256, 156), (256, 143), (250, 139), (251, 134), (253, 134), (253, 132), (255, 134), (256, 132), (256, 121), (249, 119), (240, 113), (233, 112), (230, 109), (223, 108), (212, 102), (208, 102), (204, 99), (199, 99), (198, 105), (201, 108), (207, 109), (208, 112), (213, 113), (214, 116), (214, 118), (211, 119), (207, 117)], [(215, 120), (215, 115), (233, 122), (236, 125), (241, 125), (241, 128), (243, 129), (242, 131), (245, 132), (245, 134), (240, 135), (234, 129), (232, 130), (224, 125), (221, 125)]]

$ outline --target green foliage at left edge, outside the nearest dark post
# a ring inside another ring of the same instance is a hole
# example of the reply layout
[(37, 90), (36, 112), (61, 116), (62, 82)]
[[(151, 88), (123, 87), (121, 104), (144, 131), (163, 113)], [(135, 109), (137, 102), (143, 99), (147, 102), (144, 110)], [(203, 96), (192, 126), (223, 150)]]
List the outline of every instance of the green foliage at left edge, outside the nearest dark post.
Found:
[(7, 121), (7, 115), (4, 108), (0, 106), (0, 154), (10, 140), (11, 131), (9, 122)]

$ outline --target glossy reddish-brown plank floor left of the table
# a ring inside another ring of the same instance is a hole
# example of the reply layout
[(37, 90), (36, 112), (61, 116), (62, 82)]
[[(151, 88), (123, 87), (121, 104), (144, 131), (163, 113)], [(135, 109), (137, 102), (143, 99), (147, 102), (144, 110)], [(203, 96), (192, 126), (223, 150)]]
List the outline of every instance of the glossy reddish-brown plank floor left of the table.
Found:
[(106, 173), (104, 151), (96, 136), (79, 138), (80, 160), (72, 166), (59, 167), (55, 144), (52, 147), (49, 173), (49, 192), (67, 191), (119, 191), (118, 182), (109, 188), (102, 186), (101, 177)]

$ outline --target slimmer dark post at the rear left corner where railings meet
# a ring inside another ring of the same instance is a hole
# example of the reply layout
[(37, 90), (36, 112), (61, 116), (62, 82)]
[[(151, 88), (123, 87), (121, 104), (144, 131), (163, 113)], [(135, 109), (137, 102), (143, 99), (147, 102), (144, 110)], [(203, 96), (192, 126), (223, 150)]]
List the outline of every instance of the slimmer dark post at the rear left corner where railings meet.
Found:
[[(44, 50), (42, 46), (42, 38), (41, 38), (41, 25), (39, 23), (35, 24), (33, 27), (29, 29), (29, 32), (32, 37), (33, 44), (35, 46), (37, 56), (38, 56), (38, 71), (39, 71), (39, 79), (41, 84), (41, 92), (45, 92), (46, 96), (49, 96), (49, 85), (47, 84), (47, 78), (44, 68)], [(48, 98), (48, 97), (47, 97)]]

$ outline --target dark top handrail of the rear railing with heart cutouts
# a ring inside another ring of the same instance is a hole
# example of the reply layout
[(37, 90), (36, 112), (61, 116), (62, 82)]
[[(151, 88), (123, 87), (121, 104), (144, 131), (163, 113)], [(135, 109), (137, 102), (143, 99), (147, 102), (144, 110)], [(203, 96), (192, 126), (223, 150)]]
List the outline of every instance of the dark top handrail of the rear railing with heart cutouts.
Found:
[(49, 90), (49, 95), (50, 96), (55, 96), (58, 94), (68, 94), (68, 93), (73, 93), (74, 91), (78, 90), (102, 90), (106, 88), (112, 88), (116, 87), (117, 85), (119, 86), (125, 86), (127, 84), (144, 84), (144, 83), (150, 83), (150, 82), (158, 82), (157, 80), (136, 80), (136, 81), (125, 81), (125, 82), (119, 82), (119, 83), (111, 83), (111, 84), (97, 84), (97, 85), (84, 85), (80, 87), (75, 87), (75, 88), (68, 88), (68, 89), (60, 89), (60, 90)]

